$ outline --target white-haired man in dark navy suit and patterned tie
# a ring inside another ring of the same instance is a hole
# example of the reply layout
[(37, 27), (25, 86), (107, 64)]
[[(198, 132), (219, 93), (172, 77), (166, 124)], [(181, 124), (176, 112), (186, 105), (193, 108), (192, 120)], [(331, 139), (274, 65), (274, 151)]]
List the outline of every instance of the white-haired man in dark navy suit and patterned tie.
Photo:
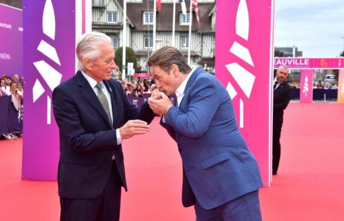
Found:
[(53, 91), (59, 128), (58, 194), (61, 221), (118, 221), (127, 191), (121, 142), (145, 134), (154, 118), (139, 111), (119, 82), (111, 38), (90, 32), (76, 48), (79, 71)]

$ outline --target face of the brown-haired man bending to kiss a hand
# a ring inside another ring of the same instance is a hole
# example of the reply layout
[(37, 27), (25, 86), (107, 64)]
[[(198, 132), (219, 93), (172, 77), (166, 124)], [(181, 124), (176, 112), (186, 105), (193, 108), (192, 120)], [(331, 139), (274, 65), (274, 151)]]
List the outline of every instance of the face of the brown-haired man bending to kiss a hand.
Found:
[(171, 73), (172, 71), (168, 73), (157, 65), (149, 67), (149, 71), (155, 80), (156, 86), (161, 92), (164, 92), (167, 96), (171, 96), (175, 93), (175, 90), (178, 88), (178, 83)]

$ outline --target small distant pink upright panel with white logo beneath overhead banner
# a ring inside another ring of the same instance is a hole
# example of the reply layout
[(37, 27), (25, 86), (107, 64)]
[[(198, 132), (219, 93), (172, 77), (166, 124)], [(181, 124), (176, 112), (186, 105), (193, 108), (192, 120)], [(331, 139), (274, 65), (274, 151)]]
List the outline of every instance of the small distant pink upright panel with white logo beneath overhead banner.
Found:
[(301, 70), (300, 102), (312, 103), (313, 101), (313, 70)]

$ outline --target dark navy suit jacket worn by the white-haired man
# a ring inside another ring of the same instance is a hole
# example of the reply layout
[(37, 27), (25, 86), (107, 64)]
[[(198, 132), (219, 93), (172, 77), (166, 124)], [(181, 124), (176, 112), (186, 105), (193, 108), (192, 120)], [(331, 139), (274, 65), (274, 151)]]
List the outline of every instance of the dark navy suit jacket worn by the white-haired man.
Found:
[(111, 97), (114, 130), (81, 72), (53, 91), (54, 116), (59, 128), (57, 180), (61, 197), (99, 196), (109, 180), (114, 154), (122, 186), (127, 191), (122, 146), (117, 145), (115, 129), (131, 119), (150, 123), (154, 118), (147, 103), (139, 111), (129, 102), (119, 82), (113, 79), (103, 82)]

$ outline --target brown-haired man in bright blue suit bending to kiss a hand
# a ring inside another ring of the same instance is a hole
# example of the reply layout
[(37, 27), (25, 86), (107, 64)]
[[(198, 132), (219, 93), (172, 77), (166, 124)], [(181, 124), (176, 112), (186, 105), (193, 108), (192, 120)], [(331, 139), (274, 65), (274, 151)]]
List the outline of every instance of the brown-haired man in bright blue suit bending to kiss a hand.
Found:
[[(182, 202), (197, 221), (260, 221), (257, 161), (241, 136), (225, 87), (180, 51), (164, 46), (148, 59), (159, 96), (148, 99), (177, 142), (183, 163)], [(178, 107), (168, 96), (176, 94)]]

